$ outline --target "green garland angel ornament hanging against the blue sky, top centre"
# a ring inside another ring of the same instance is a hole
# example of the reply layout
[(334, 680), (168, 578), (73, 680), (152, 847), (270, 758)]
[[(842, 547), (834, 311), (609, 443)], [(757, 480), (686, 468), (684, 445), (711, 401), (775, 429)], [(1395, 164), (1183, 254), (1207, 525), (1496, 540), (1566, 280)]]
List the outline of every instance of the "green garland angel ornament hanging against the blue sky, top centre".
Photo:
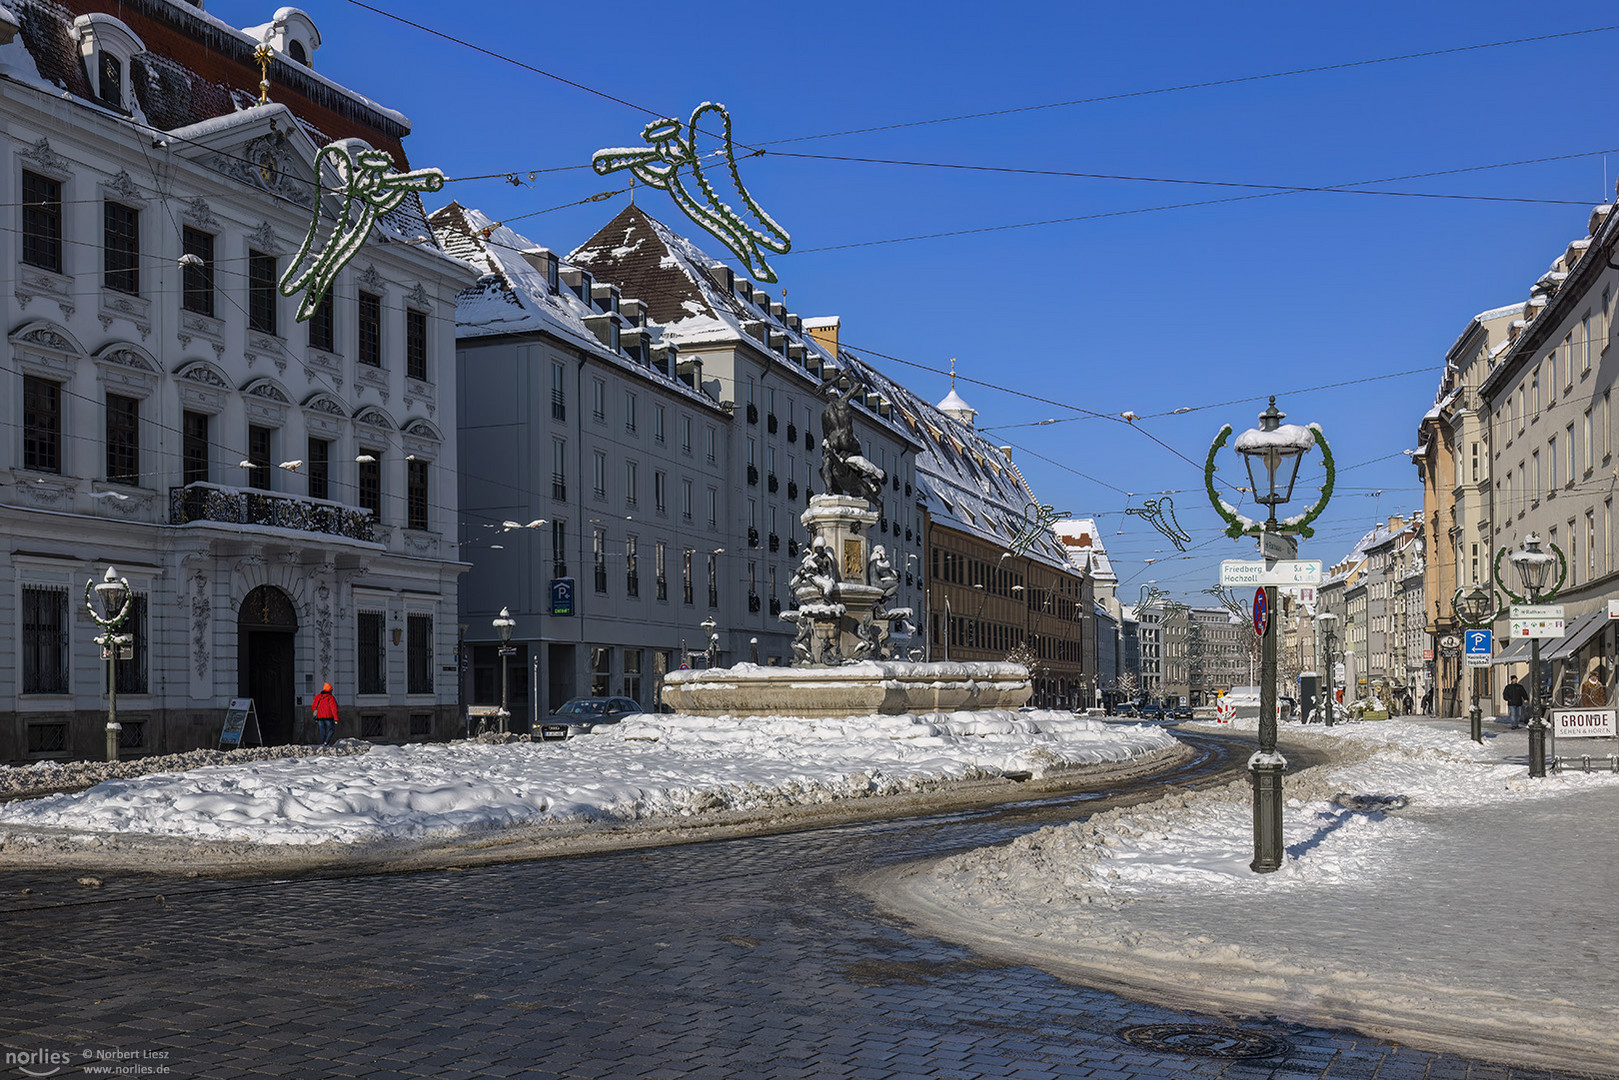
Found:
[[(703, 125), (716, 117), (724, 133), (724, 146), (709, 149), (714, 136), (703, 131)], [(674, 117), (654, 120), (641, 131), (641, 138), (646, 141), (646, 147), (596, 151), (591, 155), (591, 168), (602, 176), (628, 168), (630, 175), (649, 188), (667, 191), (686, 217), (712, 233), (748, 266), (748, 274), (759, 282), (774, 282), (776, 270), (764, 261), (764, 253), (787, 254), (793, 241), (769, 214), (759, 209), (759, 204), (742, 185), (742, 175), (737, 172), (737, 151), (730, 139), (730, 113), (725, 112), (725, 107), (703, 102), (685, 125)], [(735, 194), (746, 207), (746, 214), (735, 209), (714, 189), (703, 172), (703, 159), (706, 157), (725, 159)]]

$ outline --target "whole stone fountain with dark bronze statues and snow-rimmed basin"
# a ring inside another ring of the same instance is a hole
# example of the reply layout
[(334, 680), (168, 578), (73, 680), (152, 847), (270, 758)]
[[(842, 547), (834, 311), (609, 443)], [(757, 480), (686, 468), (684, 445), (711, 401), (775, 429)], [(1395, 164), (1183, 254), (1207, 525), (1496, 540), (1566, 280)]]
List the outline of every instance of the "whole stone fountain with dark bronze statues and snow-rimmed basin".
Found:
[(810, 531), (790, 588), (797, 627), (790, 667), (738, 664), (670, 672), (664, 704), (696, 716), (866, 716), (1015, 709), (1033, 695), (1028, 669), (1001, 662), (895, 659), (913, 612), (889, 607), (900, 578), (882, 544), (884, 471), (861, 455), (850, 387), (821, 415), (821, 481), (798, 518)]

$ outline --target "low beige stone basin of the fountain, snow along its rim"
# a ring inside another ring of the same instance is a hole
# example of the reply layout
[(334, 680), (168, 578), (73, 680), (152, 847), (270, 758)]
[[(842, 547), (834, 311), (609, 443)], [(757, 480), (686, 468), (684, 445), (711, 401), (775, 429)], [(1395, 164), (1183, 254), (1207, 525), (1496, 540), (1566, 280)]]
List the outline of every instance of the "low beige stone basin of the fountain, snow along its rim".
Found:
[(1022, 664), (865, 661), (837, 667), (737, 664), (669, 672), (664, 704), (695, 716), (869, 716), (1017, 709), (1035, 688)]

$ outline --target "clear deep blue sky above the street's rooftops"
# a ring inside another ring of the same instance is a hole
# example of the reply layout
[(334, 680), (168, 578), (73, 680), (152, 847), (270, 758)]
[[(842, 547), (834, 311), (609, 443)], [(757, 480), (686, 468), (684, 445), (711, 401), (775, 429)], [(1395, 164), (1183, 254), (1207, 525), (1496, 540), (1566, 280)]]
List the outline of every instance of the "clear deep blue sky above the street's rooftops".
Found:
[[(1219, 533), (1201, 463), (1221, 424), (1253, 426), (1268, 393), (1290, 421), (1321, 423), (1339, 463), (1300, 557), (1331, 563), (1375, 520), (1417, 508), (1400, 452), (1446, 348), (1478, 311), (1523, 300), (1619, 175), (1619, 130), (1598, 107), (1613, 96), (1619, 29), (1575, 32), (1619, 23), (1596, 3), (1533, 18), (1493, 0), (1028, 3), (1015, 15), (837, 2), (678, 18), (635, 2), (377, 6), (559, 76), (351, 0), (304, 5), (322, 34), (317, 70), (405, 112), (413, 165), (525, 180), (458, 180), (431, 199), (559, 251), (625, 201), (550, 209), (623, 186), (586, 167), (594, 151), (636, 144), (654, 113), (725, 104), (737, 141), (766, 149), (742, 162), (748, 188), (793, 238), (772, 295), (785, 287), (806, 317), (840, 316), (845, 343), (934, 400), (957, 358), (979, 426), (1015, 447), (1041, 497), (1101, 521), (1128, 599), (1148, 580), (1196, 597), (1221, 559), (1251, 557), (1250, 542)], [(207, 8), (236, 26), (270, 16), (236, 0)], [(1522, 37), (1548, 39), (1464, 50)], [(1462, 52), (1360, 63), (1438, 50)], [(1328, 65), (1355, 66), (1248, 78)], [(1222, 84), (1140, 94), (1198, 83)], [(1112, 99), (1026, 108), (1098, 97)], [(1001, 115), (915, 125), (984, 112)], [(886, 125), (913, 126), (806, 138)], [(793, 154), (1475, 198), (1230, 201), (1264, 189)], [(1365, 183), (1543, 157), (1562, 160)], [(559, 172), (528, 183), (531, 170)], [(1226, 201), (1151, 209), (1209, 199)], [(638, 201), (733, 261), (667, 196)], [(1052, 219), (1081, 220), (996, 228)], [(1177, 408), (1192, 411), (1162, 415)], [(1083, 411), (1141, 419), (1133, 429)], [(1033, 426), (1043, 419), (1062, 423)], [(1226, 470), (1240, 471), (1235, 455)], [(1307, 470), (1300, 502), (1310, 484)], [(1164, 491), (1193, 536), (1185, 555), (1124, 515)]]

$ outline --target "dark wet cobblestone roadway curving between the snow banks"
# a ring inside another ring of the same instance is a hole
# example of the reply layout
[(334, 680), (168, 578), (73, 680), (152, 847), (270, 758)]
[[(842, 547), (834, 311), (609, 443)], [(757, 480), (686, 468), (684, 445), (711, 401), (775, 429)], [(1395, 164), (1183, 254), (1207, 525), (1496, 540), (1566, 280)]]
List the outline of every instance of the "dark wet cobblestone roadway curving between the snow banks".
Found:
[(1044, 819), (971, 811), (372, 878), (87, 889), (13, 876), (0, 1046), (34, 1057), (0, 1061), (0, 1080), (102, 1065), (445, 1080), (1569, 1075), (1263, 1020), (1127, 1041), (1221, 1022), (913, 938), (840, 884)]

